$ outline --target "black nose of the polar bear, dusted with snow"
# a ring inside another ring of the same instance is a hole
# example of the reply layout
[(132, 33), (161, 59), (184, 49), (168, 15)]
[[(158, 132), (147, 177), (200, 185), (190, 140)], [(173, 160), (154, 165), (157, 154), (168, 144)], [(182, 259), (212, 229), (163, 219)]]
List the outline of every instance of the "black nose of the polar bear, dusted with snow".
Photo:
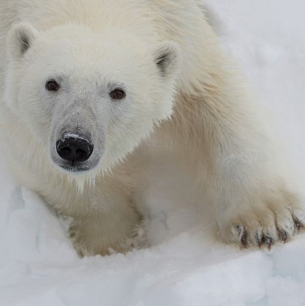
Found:
[(56, 142), (57, 154), (64, 160), (72, 162), (86, 161), (92, 151), (90, 141), (80, 135), (64, 134)]

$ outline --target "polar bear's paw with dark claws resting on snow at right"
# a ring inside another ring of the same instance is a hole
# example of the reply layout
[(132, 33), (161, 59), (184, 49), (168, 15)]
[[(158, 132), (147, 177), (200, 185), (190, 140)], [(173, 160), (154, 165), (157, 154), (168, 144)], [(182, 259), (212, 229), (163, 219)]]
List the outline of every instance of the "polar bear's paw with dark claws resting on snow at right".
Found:
[(276, 196), (273, 200), (253, 205), (221, 222), (219, 230), (223, 240), (243, 247), (266, 245), (269, 250), (274, 242), (285, 243), (305, 225), (305, 208), (295, 196), (287, 194), (285, 192), (281, 199)]

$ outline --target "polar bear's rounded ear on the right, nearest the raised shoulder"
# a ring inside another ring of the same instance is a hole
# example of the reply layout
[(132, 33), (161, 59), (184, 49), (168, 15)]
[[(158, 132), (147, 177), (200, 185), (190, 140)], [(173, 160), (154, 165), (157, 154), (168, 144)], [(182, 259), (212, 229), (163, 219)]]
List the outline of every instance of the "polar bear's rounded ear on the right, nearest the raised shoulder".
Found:
[(173, 41), (164, 41), (154, 50), (155, 63), (162, 77), (171, 78), (180, 66), (180, 50)]

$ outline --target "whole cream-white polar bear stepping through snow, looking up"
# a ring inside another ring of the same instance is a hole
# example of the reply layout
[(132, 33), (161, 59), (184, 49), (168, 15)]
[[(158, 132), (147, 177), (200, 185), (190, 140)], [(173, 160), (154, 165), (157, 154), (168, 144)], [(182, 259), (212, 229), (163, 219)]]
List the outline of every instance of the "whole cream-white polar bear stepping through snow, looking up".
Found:
[(17, 179), (73, 218), (80, 255), (122, 251), (141, 219), (133, 152), (151, 143), (186, 163), (223, 242), (270, 248), (305, 224), (199, 2), (2, 0), (0, 14), (2, 146)]

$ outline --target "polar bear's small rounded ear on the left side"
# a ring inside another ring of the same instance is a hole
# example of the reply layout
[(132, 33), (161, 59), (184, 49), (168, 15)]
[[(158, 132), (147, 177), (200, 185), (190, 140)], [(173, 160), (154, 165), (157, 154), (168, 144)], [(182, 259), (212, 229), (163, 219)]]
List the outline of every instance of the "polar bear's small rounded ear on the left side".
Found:
[(12, 58), (22, 57), (31, 47), (38, 31), (28, 22), (14, 25), (7, 37), (7, 52)]

